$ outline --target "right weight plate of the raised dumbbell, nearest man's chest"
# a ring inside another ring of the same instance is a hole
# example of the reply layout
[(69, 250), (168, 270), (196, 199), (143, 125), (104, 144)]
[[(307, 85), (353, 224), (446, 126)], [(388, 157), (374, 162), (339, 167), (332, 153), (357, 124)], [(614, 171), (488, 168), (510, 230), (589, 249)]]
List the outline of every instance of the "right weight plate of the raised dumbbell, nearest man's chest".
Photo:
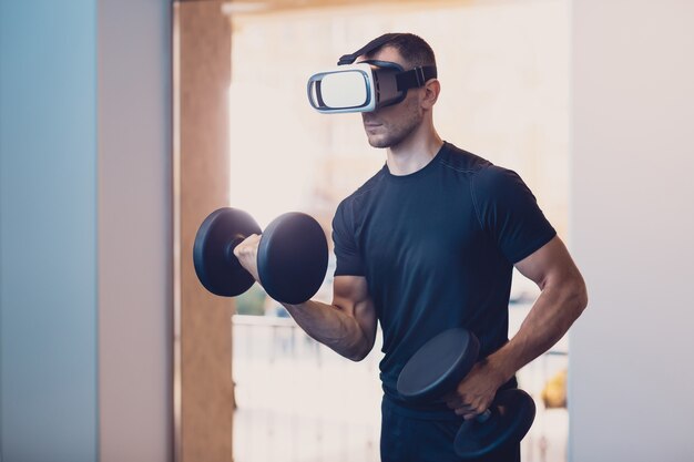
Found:
[(312, 216), (290, 212), (275, 218), (258, 247), (258, 276), (277, 301), (300, 304), (320, 288), (328, 268), (328, 242)]

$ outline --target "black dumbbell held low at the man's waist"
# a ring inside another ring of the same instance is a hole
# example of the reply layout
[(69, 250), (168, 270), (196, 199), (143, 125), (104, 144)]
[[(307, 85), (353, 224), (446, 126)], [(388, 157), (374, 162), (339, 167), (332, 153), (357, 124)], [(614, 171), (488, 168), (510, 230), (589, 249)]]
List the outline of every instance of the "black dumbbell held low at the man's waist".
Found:
[[(478, 360), (480, 342), (467, 329), (445, 330), (407, 361), (397, 390), (411, 402), (440, 402), (456, 389)], [(520, 389), (499, 391), (483, 413), (466, 420), (453, 446), (461, 459), (476, 459), (523, 439), (535, 417), (535, 403)]]

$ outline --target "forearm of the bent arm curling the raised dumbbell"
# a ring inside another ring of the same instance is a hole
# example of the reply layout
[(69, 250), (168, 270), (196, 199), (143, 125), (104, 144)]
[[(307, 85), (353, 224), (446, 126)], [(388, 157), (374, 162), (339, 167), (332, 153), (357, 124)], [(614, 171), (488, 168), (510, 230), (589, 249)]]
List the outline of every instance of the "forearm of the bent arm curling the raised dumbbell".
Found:
[(361, 360), (371, 349), (357, 320), (340, 307), (314, 300), (283, 306), (306, 333), (346, 358)]

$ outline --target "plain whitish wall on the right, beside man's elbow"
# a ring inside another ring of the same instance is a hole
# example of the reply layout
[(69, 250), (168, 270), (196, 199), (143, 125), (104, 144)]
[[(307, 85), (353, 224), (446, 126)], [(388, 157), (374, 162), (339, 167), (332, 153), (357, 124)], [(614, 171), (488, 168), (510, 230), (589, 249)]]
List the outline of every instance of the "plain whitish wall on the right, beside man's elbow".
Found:
[(694, 2), (572, 17), (570, 460), (694, 460)]

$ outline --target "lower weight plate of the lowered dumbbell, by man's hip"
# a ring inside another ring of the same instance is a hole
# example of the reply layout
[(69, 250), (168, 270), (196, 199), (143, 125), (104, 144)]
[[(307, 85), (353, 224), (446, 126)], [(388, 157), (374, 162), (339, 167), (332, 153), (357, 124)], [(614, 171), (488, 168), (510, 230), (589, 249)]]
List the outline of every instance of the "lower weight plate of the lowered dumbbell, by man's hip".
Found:
[(535, 403), (523, 390), (509, 389), (497, 393), (491, 417), (479, 422), (466, 420), (453, 443), (461, 459), (477, 459), (523, 439), (535, 418)]

